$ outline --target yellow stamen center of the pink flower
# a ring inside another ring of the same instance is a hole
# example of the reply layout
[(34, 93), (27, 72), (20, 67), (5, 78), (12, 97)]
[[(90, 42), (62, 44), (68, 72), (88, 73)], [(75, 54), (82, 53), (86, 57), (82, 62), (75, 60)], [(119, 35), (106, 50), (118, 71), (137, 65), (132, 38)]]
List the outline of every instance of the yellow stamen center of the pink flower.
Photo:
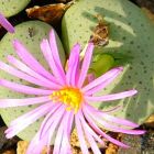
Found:
[(67, 111), (74, 110), (75, 113), (77, 113), (82, 102), (82, 94), (79, 89), (73, 87), (65, 87), (61, 90), (54, 91), (50, 98), (53, 102), (63, 102), (67, 106)]

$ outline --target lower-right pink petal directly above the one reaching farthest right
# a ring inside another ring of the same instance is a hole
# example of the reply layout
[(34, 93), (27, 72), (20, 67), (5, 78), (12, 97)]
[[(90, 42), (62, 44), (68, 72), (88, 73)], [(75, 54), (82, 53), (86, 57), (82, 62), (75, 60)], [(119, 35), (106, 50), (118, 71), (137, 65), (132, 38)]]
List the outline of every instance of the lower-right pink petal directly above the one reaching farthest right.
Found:
[(130, 127), (130, 128), (139, 128), (139, 124), (134, 123), (134, 122), (131, 122), (129, 120), (125, 120), (125, 119), (120, 119), (120, 118), (116, 118), (113, 116), (110, 116), (110, 114), (107, 114), (106, 112), (102, 112), (102, 111), (99, 111), (95, 108), (92, 108), (91, 106), (89, 105), (86, 105), (86, 107), (91, 110), (92, 112), (97, 112), (99, 113), (99, 117), (102, 117), (103, 119), (108, 120), (108, 121), (111, 121), (111, 122), (114, 122), (114, 123), (118, 123), (118, 124), (121, 124), (121, 125), (127, 125), (127, 127)]

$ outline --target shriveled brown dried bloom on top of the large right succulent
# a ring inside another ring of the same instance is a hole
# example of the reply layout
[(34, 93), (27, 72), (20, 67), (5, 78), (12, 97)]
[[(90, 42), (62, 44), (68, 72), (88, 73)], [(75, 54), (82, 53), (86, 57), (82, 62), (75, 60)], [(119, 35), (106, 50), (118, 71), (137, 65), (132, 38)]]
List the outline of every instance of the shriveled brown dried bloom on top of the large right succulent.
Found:
[(105, 46), (109, 43), (109, 24), (100, 14), (97, 14), (98, 25), (92, 30), (90, 42), (97, 46)]

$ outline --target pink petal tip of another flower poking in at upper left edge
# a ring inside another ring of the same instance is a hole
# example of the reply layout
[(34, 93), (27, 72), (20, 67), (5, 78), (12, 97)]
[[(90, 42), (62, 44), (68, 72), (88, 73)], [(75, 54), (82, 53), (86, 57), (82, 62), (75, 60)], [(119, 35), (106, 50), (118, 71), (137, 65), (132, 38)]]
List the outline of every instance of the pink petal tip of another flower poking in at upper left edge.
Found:
[(0, 13), (0, 25), (2, 25), (8, 32), (14, 33), (12, 24)]

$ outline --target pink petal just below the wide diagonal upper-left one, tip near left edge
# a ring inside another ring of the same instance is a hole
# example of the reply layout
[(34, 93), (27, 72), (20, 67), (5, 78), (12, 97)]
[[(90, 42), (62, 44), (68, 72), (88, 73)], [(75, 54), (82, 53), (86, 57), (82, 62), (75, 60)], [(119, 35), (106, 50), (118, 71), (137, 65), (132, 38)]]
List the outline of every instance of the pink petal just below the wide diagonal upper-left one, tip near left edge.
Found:
[(19, 59), (14, 58), (13, 56), (8, 56), (8, 61), (10, 64), (15, 66), (19, 70), (26, 73), (28, 75), (41, 80), (44, 82), (44, 85), (51, 86), (52, 89), (59, 89), (62, 86), (59, 86), (56, 81), (52, 81), (50, 79), (46, 79), (42, 75), (37, 74), (36, 72), (32, 70), (30, 67), (28, 67), (25, 64), (20, 62)]

